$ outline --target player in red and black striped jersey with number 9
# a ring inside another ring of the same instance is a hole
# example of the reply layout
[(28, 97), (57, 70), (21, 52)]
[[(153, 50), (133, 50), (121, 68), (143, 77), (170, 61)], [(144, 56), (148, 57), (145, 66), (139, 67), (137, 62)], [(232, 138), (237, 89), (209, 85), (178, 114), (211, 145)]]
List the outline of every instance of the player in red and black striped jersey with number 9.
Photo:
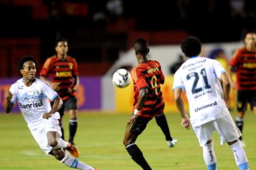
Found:
[[(134, 43), (134, 51), (138, 62), (138, 65), (131, 71), (135, 93), (134, 113), (127, 122), (123, 143), (131, 158), (139, 166), (143, 169), (151, 169), (135, 142), (154, 117), (158, 125), (166, 123), (165, 128), (168, 128), (165, 115), (163, 115), (165, 102), (160, 91), (160, 84), (165, 82), (165, 76), (161, 71), (160, 63), (148, 59), (149, 48), (146, 40), (137, 39)], [(168, 133), (170, 134), (169, 129)], [(174, 146), (175, 142), (176, 140), (170, 137), (169, 144)]]

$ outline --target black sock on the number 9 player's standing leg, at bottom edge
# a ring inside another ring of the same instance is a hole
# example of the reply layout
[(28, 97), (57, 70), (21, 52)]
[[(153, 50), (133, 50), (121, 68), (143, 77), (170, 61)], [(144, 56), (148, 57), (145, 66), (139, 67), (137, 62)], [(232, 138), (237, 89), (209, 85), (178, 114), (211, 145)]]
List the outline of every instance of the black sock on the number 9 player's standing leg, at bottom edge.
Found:
[(137, 147), (135, 143), (127, 145), (126, 150), (133, 159), (133, 161), (141, 166), (144, 170), (152, 170), (148, 162), (144, 158), (143, 152), (141, 152), (141, 150), (139, 149), (139, 147)]

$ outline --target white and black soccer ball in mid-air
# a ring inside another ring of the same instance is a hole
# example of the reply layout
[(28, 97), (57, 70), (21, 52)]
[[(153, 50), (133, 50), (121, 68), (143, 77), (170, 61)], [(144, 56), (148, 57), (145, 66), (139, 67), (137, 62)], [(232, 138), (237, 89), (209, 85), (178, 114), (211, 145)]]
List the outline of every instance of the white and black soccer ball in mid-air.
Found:
[(118, 69), (113, 73), (112, 82), (117, 88), (125, 88), (131, 83), (131, 74), (126, 69)]

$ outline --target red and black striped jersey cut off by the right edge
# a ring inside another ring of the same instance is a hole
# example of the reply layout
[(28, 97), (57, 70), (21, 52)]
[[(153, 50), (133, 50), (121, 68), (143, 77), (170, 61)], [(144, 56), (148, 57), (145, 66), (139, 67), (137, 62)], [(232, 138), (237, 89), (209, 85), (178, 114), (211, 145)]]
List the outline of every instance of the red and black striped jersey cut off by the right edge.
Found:
[(256, 49), (249, 52), (247, 48), (236, 50), (230, 65), (236, 67), (236, 86), (238, 90), (256, 90)]

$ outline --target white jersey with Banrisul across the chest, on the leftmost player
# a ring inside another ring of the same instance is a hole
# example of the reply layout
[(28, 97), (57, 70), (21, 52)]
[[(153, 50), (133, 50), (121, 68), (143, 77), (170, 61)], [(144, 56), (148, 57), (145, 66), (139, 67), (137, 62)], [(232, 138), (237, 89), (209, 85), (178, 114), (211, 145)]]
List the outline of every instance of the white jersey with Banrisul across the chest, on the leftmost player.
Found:
[[(49, 113), (51, 110), (50, 101), (53, 101), (57, 96), (49, 84), (37, 78), (29, 87), (25, 86), (23, 79), (19, 79), (11, 85), (9, 91), (13, 94), (11, 103), (18, 102), (21, 113), (30, 129), (45, 122), (46, 119), (43, 118), (43, 115)], [(59, 113), (54, 113), (51, 118), (59, 119)]]

